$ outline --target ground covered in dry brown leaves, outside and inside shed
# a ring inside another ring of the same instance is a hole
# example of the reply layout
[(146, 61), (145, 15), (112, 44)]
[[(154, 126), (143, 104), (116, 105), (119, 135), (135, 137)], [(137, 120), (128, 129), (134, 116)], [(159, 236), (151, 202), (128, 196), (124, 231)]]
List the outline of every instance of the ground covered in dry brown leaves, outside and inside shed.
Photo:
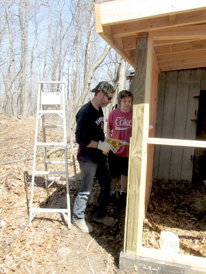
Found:
[[(92, 234), (84, 234), (73, 225), (68, 229), (65, 219), (56, 213), (38, 213), (29, 225), (35, 120), (30, 117), (22, 121), (19, 117), (12, 121), (10, 116), (0, 114), (0, 273), (89, 274), (91, 268), (95, 274), (125, 273), (118, 268), (125, 210), (120, 210), (118, 203), (108, 206), (108, 214), (118, 219), (113, 227), (93, 221), (98, 182), (87, 208), (87, 219), (94, 227)], [(42, 168), (41, 162), (43, 154), (38, 154), (37, 166)], [(76, 168), (79, 176), (78, 162)], [(69, 176), (72, 172), (69, 169)], [(72, 212), (78, 189), (75, 184), (69, 189)], [(64, 208), (65, 192), (65, 183), (56, 182), (47, 193), (43, 177), (36, 177), (34, 205)], [(170, 231), (179, 236), (179, 253), (206, 258), (205, 212), (203, 183), (154, 182), (142, 245), (159, 249), (160, 232)]]

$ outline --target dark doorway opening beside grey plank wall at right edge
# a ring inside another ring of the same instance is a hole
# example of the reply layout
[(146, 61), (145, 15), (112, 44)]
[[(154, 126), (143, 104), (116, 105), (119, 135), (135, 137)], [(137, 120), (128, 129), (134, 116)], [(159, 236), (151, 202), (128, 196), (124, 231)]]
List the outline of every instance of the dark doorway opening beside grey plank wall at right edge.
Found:
[[(200, 91), (196, 140), (206, 141), (206, 90)], [(194, 175), (199, 182), (206, 180), (206, 149), (194, 149)]]

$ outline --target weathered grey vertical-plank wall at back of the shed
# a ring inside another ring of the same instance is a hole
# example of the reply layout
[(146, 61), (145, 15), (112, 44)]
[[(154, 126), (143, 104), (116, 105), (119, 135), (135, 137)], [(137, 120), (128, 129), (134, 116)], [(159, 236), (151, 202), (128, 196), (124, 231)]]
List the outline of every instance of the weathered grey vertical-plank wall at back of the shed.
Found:
[[(206, 69), (161, 73), (155, 137), (196, 140), (201, 89), (206, 89)], [(190, 181), (193, 155), (193, 147), (156, 145), (153, 178)]]

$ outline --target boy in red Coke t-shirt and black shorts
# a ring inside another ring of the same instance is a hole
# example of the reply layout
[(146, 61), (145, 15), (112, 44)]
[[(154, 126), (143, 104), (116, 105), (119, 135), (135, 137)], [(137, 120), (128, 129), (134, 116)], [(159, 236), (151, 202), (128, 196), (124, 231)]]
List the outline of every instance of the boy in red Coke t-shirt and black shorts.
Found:
[[(106, 138), (115, 138), (130, 142), (132, 136), (133, 110), (130, 108), (133, 103), (133, 95), (128, 90), (122, 90), (118, 95), (120, 108), (113, 110), (108, 116)], [(117, 179), (121, 177), (120, 203), (123, 208), (126, 206), (126, 189), (128, 177), (128, 153), (129, 146), (123, 145), (116, 153), (108, 154), (109, 168), (113, 179), (113, 197)]]

